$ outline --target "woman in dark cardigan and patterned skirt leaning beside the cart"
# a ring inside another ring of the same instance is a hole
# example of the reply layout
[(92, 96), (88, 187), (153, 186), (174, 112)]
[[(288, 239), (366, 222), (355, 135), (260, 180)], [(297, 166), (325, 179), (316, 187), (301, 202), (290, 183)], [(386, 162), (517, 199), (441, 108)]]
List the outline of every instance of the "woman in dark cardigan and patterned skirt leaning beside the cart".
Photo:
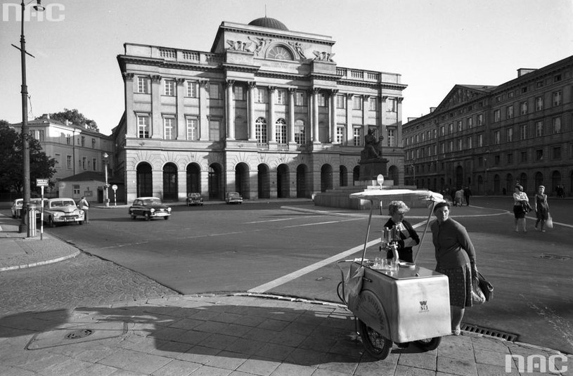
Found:
[(448, 276), (451, 311), (451, 334), (460, 335), (465, 307), (472, 306), (472, 273), (477, 273), (475, 249), (468, 231), (449, 217), (449, 202), (434, 206), (432, 242), (437, 261), (436, 271)]

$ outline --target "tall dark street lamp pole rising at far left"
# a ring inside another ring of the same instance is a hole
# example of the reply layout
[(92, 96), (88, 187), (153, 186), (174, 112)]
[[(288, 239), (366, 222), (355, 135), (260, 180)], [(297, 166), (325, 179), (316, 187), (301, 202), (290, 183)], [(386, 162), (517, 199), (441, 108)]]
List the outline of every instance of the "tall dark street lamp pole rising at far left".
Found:
[[(36, 1), (36, 5), (34, 9), (36, 11), (44, 11), (44, 7), (40, 4), (41, 0)], [(28, 142), (28, 138), (30, 137), (30, 129), (28, 128), (28, 86), (26, 85), (26, 55), (32, 56), (30, 53), (26, 52), (26, 39), (24, 37), (24, 13), (26, 4), (22, 0), (20, 4), (22, 7), (22, 32), (20, 33), (20, 56), (22, 61), (22, 212), (25, 211), (22, 217), (22, 222), (18, 228), (18, 232), (20, 233), (27, 233), (27, 236), (30, 237), (30, 229), (28, 228), (27, 221), (27, 209), (28, 204), (30, 203), (30, 143)], [(29, 219), (29, 221), (33, 221), (35, 219)]]

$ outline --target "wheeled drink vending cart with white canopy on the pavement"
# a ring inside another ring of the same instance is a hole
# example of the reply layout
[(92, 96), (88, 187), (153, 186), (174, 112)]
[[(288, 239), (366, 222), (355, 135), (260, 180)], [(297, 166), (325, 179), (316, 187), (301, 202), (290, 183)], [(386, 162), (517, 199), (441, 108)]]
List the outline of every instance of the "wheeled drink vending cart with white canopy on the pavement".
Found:
[[(401, 199), (428, 202), (430, 213), (419, 251), (434, 205), (443, 201), (442, 195), (430, 190), (366, 190), (350, 195), (371, 201), (362, 257), (338, 261), (339, 266), (350, 264), (347, 273), (341, 267), (339, 297), (356, 316), (366, 351), (379, 359), (388, 356), (392, 342), (399, 345), (416, 342), (423, 349), (431, 350), (439, 346), (442, 336), (451, 334), (447, 276), (416, 265), (418, 252), (413, 263), (399, 261), (396, 228), (380, 226), (380, 247), (373, 251), (373, 259), (366, 258), (374, 203), (380, 202), (382, 206), (382, 201), (395, 200), (397, 195)], [(392, 249), (392, 259), (385, 259), (387, 249)]]

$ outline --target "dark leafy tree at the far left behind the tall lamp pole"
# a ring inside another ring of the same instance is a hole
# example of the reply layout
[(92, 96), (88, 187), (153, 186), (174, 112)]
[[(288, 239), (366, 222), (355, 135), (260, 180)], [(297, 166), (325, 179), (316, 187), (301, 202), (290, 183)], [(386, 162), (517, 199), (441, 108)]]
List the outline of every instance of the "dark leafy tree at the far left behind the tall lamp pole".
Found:
[[(34, 191), (36, 179), (51, 179), (56, 174), (56, 160), (42, 151), (39, 141), (29, 137), (30, 145), (30, 190)], [(22, 177), (22, 134), (11, 128), (8, 122), (0, 120), (0, 190), (21, 192)], [(50, 187), (55, 184), (50, 181)]]

